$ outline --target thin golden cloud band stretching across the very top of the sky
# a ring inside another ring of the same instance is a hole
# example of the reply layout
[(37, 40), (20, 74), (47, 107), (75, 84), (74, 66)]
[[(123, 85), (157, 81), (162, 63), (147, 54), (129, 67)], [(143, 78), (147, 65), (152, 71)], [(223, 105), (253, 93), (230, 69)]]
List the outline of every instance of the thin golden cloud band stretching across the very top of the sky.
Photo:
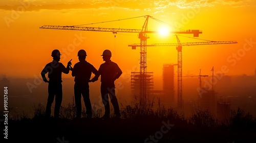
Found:
[[(59, 1), (58, 1), (59, 2)], [(25, 11), (39, 11), (39, 10), (65, 10), (65, 9), (101, 9), (101, 8), (123, 8), (129, 10), (148, 10), (155, 9), (154, 12), (163, 11), (170, 7), (180, 9), (199, 8), (199, 7), (214, 7), (217, 5), (225, 5), (230, 7), (243, 7), (255, 5), (253, 0), (177, 0), (177, 1), (124, 1), (124, 0), (91, 0), (91, 1), (78, 1), (79, 4), (73, 1), (66, 1), (66, 3), (57, 3), (57, 1), (45, 3), (43, 1), (20, 1), (19, 4), (12, 5), (6, 3), (0, 5), (0, 9), (5, 11), (17, 10), (23, 4), (26, 5)], [(22, 4), (23, 3), (23, 4)], [(9, 4), (9, 5), (7, 5)]]

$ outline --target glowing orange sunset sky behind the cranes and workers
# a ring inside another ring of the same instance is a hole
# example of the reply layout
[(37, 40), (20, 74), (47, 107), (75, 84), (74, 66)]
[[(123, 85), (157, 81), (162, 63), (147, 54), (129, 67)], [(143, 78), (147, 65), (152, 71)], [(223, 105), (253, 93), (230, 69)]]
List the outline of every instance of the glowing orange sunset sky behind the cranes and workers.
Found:
[[(256, 3), (255, 1), (1, 1), (0, 76), (39, 77), (42, 67), (52, 60), (51, 52), (59, 49), (60, 62), (73, 65), (77, 52), (84, 49), (87, 61), (96, 68), (103, 62), (105, 49), (113, 53), (112, 60), (123, 70), (123, 76), (139, 71), (139, 48), (128, 44), (139, 43), (136, 33), (69, 31), (39, 29), (43, 25), (73, 26), (142, 15), (151, 15), (181, 29), (202, 30), (198, 38), (213, 41), (236, 40), (238, 44), (183, 46), (183, 75), (211, 75), (228, 70), (225, 75), (253, 75), (256, 67)], [(105, 22), (88, 27), (141, 29), (145, 18)], [(149, 19), (148, 29), (158, 30), (162, 23)], [(171, 31), (177, 31), (169, 27)], [(176, 43), (174, 35), (161, 37), (149, 34), (147, 43)], [(192, 35), (182, 35), (189, 36)], [(190, 38), (180, 37), (181, 42)], [(200, 41), (200, 40), (192, 40)], [(255, 42), (254, 42), (255, 41)], [(237, 56), (236, 56), (237, 55)], [(147, 71), (154, 77), (162, 76), (164, 63), (177, 63), (176, 47), (148, 47)], [(63, 75), (71, 77), (71, 75)]]

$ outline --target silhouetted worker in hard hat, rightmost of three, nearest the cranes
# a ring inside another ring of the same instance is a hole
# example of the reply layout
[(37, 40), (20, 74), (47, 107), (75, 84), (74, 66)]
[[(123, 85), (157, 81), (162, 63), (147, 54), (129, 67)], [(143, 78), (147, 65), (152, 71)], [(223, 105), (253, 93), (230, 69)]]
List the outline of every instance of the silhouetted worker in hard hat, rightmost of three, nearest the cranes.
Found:
[(112, 62), (110, 59), (112, 57), (110, 50), (103, 51), (103, 61), (99, 67), (99, 73), (101, 75), (101, 85), (100, 85), (100, 92), (101, 92), (101, 99), (104, 104), (105, 113), (102, 116), (103, 119), (110, 118), (110, 103), (109, 103), (109, 97), (111, 100), (111, 103), (114, 107), (114, 113), (116, 117), (120, 117), (120, 110), (118, 101), (115, 94), (115, 80), (118, 79), (121, 74), (122, 70), (119, 68), (119, 66)]

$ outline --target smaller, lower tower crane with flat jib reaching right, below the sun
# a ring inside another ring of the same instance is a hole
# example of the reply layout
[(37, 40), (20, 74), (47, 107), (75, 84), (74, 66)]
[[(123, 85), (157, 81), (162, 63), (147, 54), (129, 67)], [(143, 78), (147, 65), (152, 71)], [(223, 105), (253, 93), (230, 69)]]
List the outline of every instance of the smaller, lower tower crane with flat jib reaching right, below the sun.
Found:
[[(208, 45), (208, 44), (232, 44), (238, 43), (237, 41), (207, 41), (207, 42), (186, 42), (181, 43), (178, 35), (176, 35), (178, 43), (154, 43), (147, 44), (146, 46), (176, 46), (176, 50), (178, 52), (178, 97), (177, 97), (177, 106), (179, 109), (183, 108), (182, 102), (182, 46), (189, 45)], [(128, 46), (132, 46), (132, 49), (136, 49), (136, 46), (140, 46), (139, 44), (129, 44)]]

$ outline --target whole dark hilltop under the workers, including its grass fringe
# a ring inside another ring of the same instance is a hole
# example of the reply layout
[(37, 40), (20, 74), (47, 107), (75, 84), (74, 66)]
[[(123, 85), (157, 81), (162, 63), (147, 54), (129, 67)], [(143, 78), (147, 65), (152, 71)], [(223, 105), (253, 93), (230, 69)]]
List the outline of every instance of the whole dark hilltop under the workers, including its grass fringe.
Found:
[[(197, 110), (184, 117), (175, 109), (153, 104), (121, 108), (121, 118), (75, 118), (75, 105), (61, 107), (60, 118), (45, 118), (45, 108), (34, 108), (34, 117), (17, 114), (8, 121), (8, 141), (18, 142), (256, 142), (256, 120), (238, 108), (228, 121), (218, 121), (208, 111)], [(10, 111), (11, 112), (11, 111)], [(1, 112), (1, 118), (3, 112)], [(4, 117), (3, 117), (4, 118)], [(3, 130), (2, 130), (3, 131)], [(4, 141), (6, 141), (5, 139)]]

